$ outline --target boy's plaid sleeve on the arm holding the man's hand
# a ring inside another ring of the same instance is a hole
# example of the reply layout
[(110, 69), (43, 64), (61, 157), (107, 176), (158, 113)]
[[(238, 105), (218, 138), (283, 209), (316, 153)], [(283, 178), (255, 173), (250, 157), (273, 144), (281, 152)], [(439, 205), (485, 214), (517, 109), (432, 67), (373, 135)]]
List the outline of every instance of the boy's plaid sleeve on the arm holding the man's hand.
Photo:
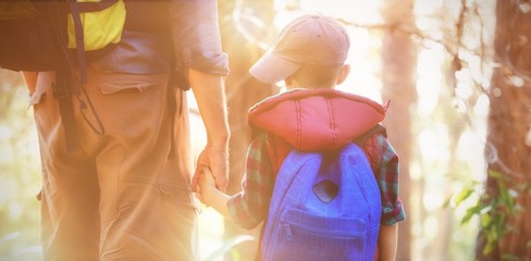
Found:
[(264, 133), (249, 145), (242, 186), (242, 192), (229, 200), (229, 212), (236, 224), (251, 229), (267, 217), (274, 186)]

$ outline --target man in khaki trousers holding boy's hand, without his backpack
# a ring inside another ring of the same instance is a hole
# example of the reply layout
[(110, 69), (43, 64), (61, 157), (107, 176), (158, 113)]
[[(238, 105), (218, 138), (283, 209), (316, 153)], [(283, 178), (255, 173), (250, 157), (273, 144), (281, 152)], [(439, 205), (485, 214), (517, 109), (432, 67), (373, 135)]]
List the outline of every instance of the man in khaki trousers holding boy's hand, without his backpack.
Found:
[(212, 170), (221, 190), (227, 184), (229, 66), (217, 1), (125, 8), (121, 41), (86, 53), (86, 84), (71, 97), (75, 150), (66, 149), (54, 73), (24, 74), (40, 142), (46, 260), (197, 260), (188, 110), (172, 57), (207, 129), (197, 164)]

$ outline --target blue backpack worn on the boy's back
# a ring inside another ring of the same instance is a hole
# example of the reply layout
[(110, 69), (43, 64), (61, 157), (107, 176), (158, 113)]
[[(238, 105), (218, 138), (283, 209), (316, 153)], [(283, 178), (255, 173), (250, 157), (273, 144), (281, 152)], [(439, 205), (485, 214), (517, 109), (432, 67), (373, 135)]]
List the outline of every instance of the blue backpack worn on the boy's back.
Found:
[(380, 190), (362, 149), (292, 150), (271, 198), (263, 260), (374, 260)]

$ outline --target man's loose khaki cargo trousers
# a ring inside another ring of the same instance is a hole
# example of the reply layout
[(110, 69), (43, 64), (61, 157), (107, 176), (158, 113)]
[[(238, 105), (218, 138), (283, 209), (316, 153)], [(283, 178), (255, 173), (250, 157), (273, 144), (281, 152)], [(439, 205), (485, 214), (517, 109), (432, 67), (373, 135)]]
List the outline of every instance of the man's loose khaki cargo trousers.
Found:
[[(81, 149), (66, 152), (50, 90), (35, 104), (42, 163), (41, 236), (46, 260), (195, 260), (197, 216), (190, 190), (186, 96), (177, 113), (168, 75), (88, 72), (74, 96)], [(81, 109), (81, 103), (85, 103)], [(175, 157), (171, 117), (175, 117)]]

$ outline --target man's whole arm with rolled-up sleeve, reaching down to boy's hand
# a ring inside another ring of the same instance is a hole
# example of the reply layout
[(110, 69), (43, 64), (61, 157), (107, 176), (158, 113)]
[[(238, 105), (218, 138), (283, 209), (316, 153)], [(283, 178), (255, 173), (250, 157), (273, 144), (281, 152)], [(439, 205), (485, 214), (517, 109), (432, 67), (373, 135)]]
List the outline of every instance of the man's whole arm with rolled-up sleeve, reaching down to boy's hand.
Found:
[(192, 189), (197, 188), (201, 169), (210, 166), (218, 188), (224, 191), (229, 179), (230, 134), (224, 95), (229, 59), (221, 48), (218, 1), (173, 0), (168, 11), (178, 70), (187, 75), (207, 129), (208, 142), (197, 159)]

